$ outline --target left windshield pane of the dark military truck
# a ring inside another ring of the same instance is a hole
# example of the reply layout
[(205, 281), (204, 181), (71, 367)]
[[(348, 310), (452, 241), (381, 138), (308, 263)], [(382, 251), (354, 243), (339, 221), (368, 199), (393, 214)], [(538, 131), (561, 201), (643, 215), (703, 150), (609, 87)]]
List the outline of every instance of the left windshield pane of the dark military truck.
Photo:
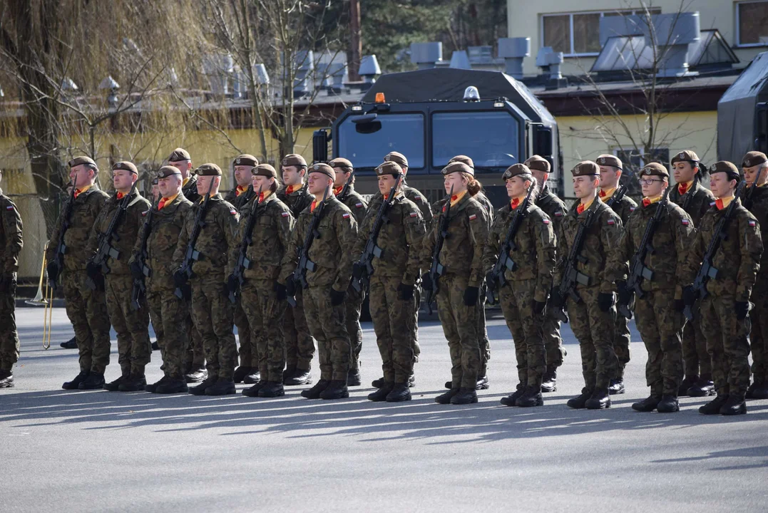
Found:
[(359, 133), (349, 116), (339, 124), (339, 156), (352, 161), (356, 168), (374, 168), (384, 156), (396, 151), (408, 159), (409, 168), (424, 167), (424, 115), (420, 113), (379, 113), (381, 130)]

